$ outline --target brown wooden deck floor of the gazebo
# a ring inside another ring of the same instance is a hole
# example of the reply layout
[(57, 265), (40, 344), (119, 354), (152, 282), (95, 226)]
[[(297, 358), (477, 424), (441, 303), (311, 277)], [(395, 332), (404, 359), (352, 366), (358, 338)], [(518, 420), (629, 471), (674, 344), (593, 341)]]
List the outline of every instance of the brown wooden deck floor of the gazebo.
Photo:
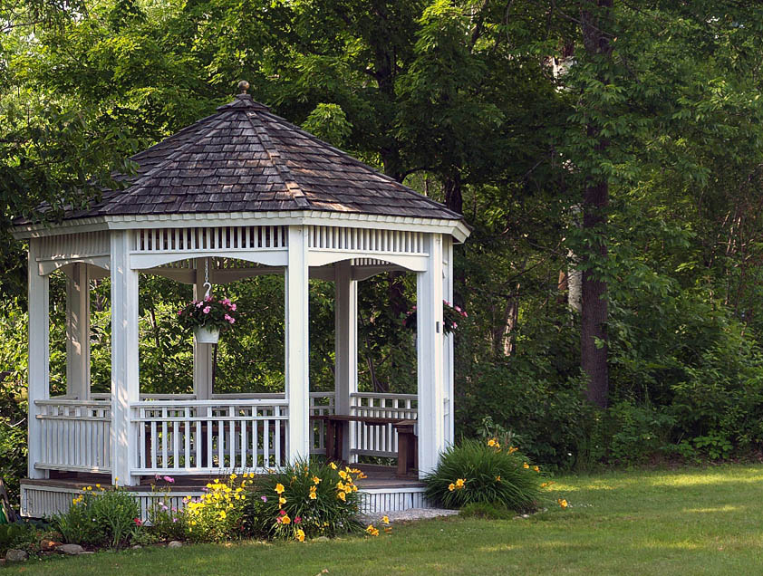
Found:
[[(417, 488), (424, 484), (416, 477), (401, 478), (395, 475), (394, 466), (377, 466), (360, 464), (353, 467), (362, 470), (367, 477), (358, 480), (357, 485), (361, 489), (375, 490), (385, 488)], [(199, 491), (209, 482), (220, 475), (177, 475), (172, 476), (175, 482), (170, 485), (171, 492)], [(56, 486), (70, 489), (79, 489), (85, 485), (100, 484), (103, 486), (111, 485), (111, 475), (106, 474), (85, 474), (81, 472), (56, 472), (51, 471), (51, 477), (45, 479), (24, 478), (25, 485)], [(140, 485), (127, 486), (127, 490), (133, 492), (146, 492), (150, 490), (150, 485), (156, 483), (153, 476), (143, 476)], [(160, 482), (164, 487), (165, 482)]]

